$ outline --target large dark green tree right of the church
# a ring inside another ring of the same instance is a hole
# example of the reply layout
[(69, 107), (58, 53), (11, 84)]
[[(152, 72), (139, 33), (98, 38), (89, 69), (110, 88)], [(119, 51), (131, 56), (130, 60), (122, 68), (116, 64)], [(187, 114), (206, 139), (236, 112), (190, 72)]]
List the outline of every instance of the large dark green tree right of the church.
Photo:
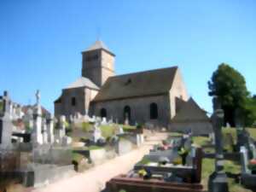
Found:
[(249, 96), (244, 77), (233, 67), (222, 63), (212, 74), (208, 88), (209, 96), (218, 96), (221, 102), (224, 109), (224, 122), (235, 126), (236, 111), (244, 111)]

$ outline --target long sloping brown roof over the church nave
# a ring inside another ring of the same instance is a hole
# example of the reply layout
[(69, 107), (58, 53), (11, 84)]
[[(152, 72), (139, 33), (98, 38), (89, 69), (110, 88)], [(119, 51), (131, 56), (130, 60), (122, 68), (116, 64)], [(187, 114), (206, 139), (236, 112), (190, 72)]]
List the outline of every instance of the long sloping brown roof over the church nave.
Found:
[(176, 73), (177, 67), (169, 67), (113, 76), (103, 84), (94, 102), (167, 93)]

